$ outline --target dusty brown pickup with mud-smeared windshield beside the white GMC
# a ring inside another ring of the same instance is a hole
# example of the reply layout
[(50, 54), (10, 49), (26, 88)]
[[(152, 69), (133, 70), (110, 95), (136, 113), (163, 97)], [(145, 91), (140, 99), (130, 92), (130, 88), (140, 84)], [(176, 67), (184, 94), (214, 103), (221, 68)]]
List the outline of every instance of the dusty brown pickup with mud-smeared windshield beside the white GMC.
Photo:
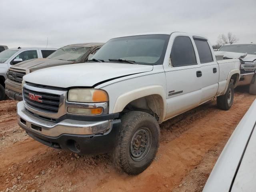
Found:
[(10, 99), (22, 100), (22, 77), (39, 69), (83, 63), (90, 59), (103, 43), (81, 43), (59, 48), (47, 58), (27, 60), (9, 68), (5, 93)]

